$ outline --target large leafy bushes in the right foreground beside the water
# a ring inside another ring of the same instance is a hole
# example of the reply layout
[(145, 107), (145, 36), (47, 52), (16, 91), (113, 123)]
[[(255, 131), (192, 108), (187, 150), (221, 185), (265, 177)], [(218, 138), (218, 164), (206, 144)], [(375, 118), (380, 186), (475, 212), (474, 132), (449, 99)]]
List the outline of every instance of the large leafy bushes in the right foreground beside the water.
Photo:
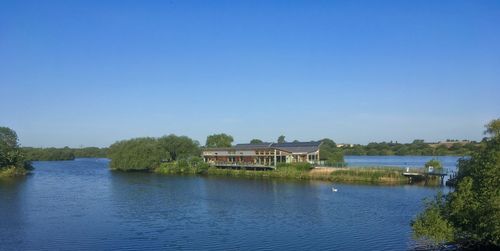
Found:
[(490, 138), (458, 163), (453, 192), (426, 203), (412, 223), (415, 237), (463, 249), (500, 248), (500, 119), (487, 126)]

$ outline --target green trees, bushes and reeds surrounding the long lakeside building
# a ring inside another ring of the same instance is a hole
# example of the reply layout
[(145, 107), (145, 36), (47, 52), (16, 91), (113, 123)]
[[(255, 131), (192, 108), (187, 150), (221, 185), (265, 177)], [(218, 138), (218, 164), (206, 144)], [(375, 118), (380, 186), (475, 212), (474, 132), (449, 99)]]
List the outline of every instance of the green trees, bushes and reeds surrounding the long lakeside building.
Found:
[[(280, 137), (283, 140), (284, 137)], [(214, 134), (207, 137), (208, 145), (226, 147), (232, 137)], [(253, 140), (253, 143), (261, 142)], [(335, 142), (323, 139), (320, 147), (321, 159), (336, 166), (343, 163), (343, 155)], [(169, 135), (160, 138), (136, 138), (123, 140), (111, 145), (108, 157), (110, 167), (119, 171), (146, 171), (158, 174), (219, 175), (233, 177), (262, 177), (314, 179), (348, 183), (404, 184), (403, 168), (356, 167), (317, 168), (309, 163), (280, 163), (272, 170), (222, 169), (211, 166), (200, 158), (201, 147), (197, 141), (185, 136)]]

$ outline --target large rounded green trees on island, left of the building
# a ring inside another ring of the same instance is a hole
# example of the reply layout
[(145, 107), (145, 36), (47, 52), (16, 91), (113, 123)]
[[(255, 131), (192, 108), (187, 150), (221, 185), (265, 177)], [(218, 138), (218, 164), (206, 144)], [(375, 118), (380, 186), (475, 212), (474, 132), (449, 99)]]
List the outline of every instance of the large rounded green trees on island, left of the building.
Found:
[(161, 162), (189, 159), (200, 155), (198, 142), (168, 135), (161, 138), (136, 138), (118, 141), (108, 149), (110, 167), (121, 171), (152, 171)]

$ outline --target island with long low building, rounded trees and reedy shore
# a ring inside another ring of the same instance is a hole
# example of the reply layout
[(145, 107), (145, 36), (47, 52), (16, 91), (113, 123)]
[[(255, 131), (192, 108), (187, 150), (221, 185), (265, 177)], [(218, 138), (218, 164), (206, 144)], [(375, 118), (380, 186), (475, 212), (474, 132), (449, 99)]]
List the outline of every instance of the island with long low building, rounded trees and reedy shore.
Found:
[[(206, 144), (187, 136), (135, 138), (111, 145), (110, 168), (125, 172), (153, 172), (164, 175), (215, 175), (248, 178), (286, 178), (343, 183), (398, 185), (409, 180), (403, 167), (349, 168), (342, 149), (331, 139), (277, 143), (254, 139), (249, 144), (232, 145), (224, 133), (207, 137)], [(412, 168), (414, 172), (422, 169)], [(422, 181), (414, 180), (415, 182)], [(412, 181), (413, 182), (413, 181)], [(429, 185), (439, 185), (431, 177)]]

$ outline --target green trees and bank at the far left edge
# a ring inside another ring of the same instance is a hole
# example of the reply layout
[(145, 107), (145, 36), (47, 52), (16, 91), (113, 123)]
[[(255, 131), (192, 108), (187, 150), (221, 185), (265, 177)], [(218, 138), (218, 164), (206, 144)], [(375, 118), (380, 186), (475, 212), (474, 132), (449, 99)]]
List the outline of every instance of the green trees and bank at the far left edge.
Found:
[(8, 127), (0, 127), (0, 177), (26, 175), (32, 169), (19, 147), (17, 134)]

